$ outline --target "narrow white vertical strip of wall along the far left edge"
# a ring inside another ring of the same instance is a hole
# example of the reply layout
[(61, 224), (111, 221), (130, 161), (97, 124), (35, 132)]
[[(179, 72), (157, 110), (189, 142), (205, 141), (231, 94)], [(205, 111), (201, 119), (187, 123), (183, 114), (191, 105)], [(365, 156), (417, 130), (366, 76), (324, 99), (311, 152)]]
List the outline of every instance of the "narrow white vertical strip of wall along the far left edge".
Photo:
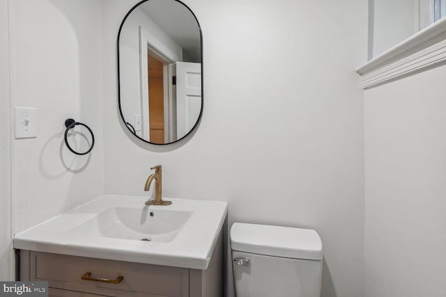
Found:
[(13, 280), (11, 269), (8, 28), (8, 1), (0, 0), (0, 280)]

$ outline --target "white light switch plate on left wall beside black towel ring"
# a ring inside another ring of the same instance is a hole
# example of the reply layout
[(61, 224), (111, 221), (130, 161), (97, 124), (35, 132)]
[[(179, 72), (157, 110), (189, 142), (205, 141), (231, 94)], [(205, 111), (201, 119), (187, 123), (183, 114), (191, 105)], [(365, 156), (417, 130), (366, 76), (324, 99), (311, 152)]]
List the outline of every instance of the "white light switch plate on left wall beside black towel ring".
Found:
[(37, 131), (37, 109), (32, 107), (15, 107), (15, 139), (36, 138)]

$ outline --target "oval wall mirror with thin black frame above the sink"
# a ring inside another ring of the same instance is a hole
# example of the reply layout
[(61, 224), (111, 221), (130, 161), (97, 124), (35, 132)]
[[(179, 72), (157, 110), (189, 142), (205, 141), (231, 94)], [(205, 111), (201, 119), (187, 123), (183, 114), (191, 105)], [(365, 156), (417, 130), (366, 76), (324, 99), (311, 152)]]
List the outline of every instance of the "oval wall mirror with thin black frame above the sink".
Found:
[(118, 103), (143, 141), (174, 143), (203, 112), (202, 36), (192, 10), (177, 0), (146, 0), (118, 32)]

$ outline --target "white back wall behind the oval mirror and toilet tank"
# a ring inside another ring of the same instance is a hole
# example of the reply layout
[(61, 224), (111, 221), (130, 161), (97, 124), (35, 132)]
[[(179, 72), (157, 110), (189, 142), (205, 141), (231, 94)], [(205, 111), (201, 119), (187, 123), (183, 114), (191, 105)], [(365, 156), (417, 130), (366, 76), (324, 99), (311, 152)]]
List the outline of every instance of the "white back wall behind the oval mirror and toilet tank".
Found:
[(230, 224), (316, 229), (322, 296), (362, 296), (363, 93), (354, 69), (367, 56), (366, 1), (185, 1), (203, 30), (204, 111), (194, 136), (169, 146), (134, 140), (118, 115), (116, 33), (134, 3), (103, 3), (106, 193), (147, 195), (160, 163), (165, 196), (228, 201)]

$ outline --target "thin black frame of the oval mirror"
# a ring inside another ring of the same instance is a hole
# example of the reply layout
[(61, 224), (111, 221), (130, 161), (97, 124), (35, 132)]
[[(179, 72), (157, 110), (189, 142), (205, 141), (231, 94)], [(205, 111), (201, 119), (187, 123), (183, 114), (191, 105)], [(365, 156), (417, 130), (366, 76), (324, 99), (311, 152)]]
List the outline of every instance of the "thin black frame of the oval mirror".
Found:
[(177, 139), (176, 141), (172, 141), (171, 143), (151, 143), (150, 141), (146, 141), (144, 138), (141, 138), (139, 136), (137, 136), (137, 134), (134, 133), (134, 131), (132, 131), (132, 129), (130, 129), (130, 127), (128, 127), (127, 122), (124, 118), (123, 115), (123, 111), (121, 109), (121, 72), (119, 69), (119, 38), (121, 36), (121, 30), (123, 29), (123, 25), (125, 23), (125, 20), (128, 18), (128, 16), (130, 15), (130, 13), (132, 13), (132, 11), (137, 8), (139, 5), (141, 5), (142, 3), (148, 2), (150, 0), (142, 0), (139, 1), (136, 5), (134, 5), (129, 11), (128, 13), (125, 15), (123, 22), (121, 22), (121, 26), (119, 26), (119, 30), (118, 30), (118, 38), (117, 38), (117, 42), (116, 42), (116, 54), (117, 54), (117, 63), (118, 63), (118, 106), (119, 106), (119, 113), (121, 114), (121, 119), (123, 120), (123, 123), (125, 125), (125, 127), (127, 127), (128, 131), (130, 131), (130, 133), (134, 136), (136, 136), (137, 138), (139, 138), (141, 141), (144, 141), (145, 143), (150, 143), (152, 145), (170, 145), (172, 143), (178, 143), (178, 141), (183, 140), (184, 138), (186, 138), (188, 135), (190, 135), (192, 133), (192, 131), (194, 131), (195, 129), (197, 129), (197, 126), (199, 125), (199, 122), (201, 120), (201, 115), (203, 115), (203, 105), (204, 105), (204, 96), (203, 96), (203, 33), (201, 31), (201, 26), (200, 23), (198, 22), (197, 17), (195, 16), (195, 14), (192, 12), (192, 10), (189, 8), (189, 6), (187, 6), (185, 3), (183, 3), (182, 1), (179, 0), (171, 0), (171, 1), (176, 1), (178, 3), (180, 3), (181, 5), (185, 6), (185, 8), (187, 8), (187, 10), (190, 11), (190, 13), (194, 16), (195, 21), (197, 22), (198, 25), (198, 29), (200, 32), (200, 47), (201, 47), (201, 109), (200, 109), (200, 114), (197, 118), (197, 122), (195, 122), (194, 127), (192, 127), (192, 129), (190, 129), (189, 132), (187, 132), (187, 134), (185, 134), (185, 136)]

